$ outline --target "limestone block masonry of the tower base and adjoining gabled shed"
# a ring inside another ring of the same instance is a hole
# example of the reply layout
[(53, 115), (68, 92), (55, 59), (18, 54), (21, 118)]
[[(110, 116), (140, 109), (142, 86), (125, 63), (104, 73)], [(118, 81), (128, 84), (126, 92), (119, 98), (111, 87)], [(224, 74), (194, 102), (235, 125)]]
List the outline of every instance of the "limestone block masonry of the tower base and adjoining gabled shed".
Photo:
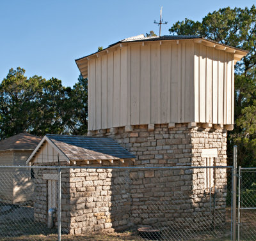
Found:
[[(218, 149), (214, 166), (225, 166), (227, 131), (188, 128), (176, 124), (134, 126), (102, 130), (136, 156), (133, 164), (143, 166), (205, 166), (202, 149)], [(44, 163), (56, 164), (56, 163)], [(67, 164), (67, 163), (66, 163)], [(124, 163), (125, 164), (125, 163)], [(63, 163), (62, 165), (65, 165)], [(84, 164), (81, 163), (81, 166)], [(92, 166), (105, 166), (90, 164)], [(117, 163), (111, 164), (116, 166)], [(205, 168), (199, 169), (109, 169), (76, 168), (62, 171), (61, 226), (67, 233), (81, 234), (100, 230), (125, 230), (139, 225), (204, 229), (223, 225), (227, 194), (227, 170), (214, 170), (214, 191), (205, 189)], [(56, 173), (56, 170), (50, 170)], [(47, 221), (47, 180), (49, 170), (36, 170), (35, 219)], [(214, 211), (212, 211), (214, 210)], [(196, 224), (196, 225), (194, 225)]]

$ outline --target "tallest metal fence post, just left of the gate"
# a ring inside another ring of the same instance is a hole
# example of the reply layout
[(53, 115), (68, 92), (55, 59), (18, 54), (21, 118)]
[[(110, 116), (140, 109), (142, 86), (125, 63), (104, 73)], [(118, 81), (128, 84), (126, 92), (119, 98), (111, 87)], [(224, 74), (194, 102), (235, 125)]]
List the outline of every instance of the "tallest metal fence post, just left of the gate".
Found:
[(233, 168), (232, 168), (232, 240), (236, 240), (236, 177), (237, 177), (237, 146), (233, 148)]

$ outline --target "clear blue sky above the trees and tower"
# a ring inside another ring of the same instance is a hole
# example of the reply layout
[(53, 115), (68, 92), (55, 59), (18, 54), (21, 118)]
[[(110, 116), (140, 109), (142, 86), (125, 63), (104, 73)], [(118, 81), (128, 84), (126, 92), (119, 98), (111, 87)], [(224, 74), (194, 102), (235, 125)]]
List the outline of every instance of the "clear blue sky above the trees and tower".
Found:
[(177, 20), (202, 20), (207, 13), (235, 6), (251, 7), (255, 0), (215, 1), (83, 1), (0, 0), (0, 82), (10, 68), (26, 69), (26, 76), (56, 77), (72, 86), (79, 70), (75, 59), (108, 47), (118, 40), (158, 33), (163, 6), (162, 33)]

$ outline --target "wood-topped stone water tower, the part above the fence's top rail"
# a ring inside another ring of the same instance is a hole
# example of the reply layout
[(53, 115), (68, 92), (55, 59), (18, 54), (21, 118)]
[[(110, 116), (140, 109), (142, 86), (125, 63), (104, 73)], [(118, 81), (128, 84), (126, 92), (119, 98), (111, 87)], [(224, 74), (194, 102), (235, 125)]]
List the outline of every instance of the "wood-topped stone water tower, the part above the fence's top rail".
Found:
[(225, 164), (234, 64), (246, 53), (200, 36), (141, 34), (77, 59), (88, 78), (88, 135), (117, 139), (136, 164), (205, 164), (202, 149)]

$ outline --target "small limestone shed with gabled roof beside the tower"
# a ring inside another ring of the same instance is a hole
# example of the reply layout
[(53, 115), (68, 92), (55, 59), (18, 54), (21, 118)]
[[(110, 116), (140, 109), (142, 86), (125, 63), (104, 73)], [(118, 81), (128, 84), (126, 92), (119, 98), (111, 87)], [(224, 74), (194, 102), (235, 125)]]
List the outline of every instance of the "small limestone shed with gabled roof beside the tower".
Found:
[[(61, 166), (61, 226), (67, 233), (125, 228), (131, 212), (127, 170), (135, 156), (111, 138), (46, 135), (29, 156), (32, 166)], [(109, 169), (81, 169), (108, 166)], [(35, 221), (47, 223), (47, 212), (58, 208), (57, 170), (34, 168)], [(75, 231), (76, 230), (76, 231)]]

